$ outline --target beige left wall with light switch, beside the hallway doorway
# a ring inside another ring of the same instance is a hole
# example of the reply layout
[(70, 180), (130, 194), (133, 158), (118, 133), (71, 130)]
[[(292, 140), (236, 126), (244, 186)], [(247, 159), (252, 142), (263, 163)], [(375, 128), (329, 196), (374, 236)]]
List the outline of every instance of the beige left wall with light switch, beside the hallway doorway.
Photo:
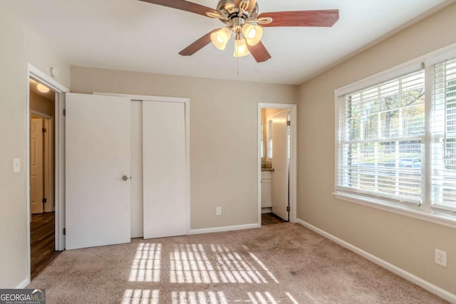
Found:
[[(14, 288), (26, 279), (26, 63), (69, 86), (69, 65), (55, 56), (0, 5), (0, 288)], [(28, 118), (27, 118), (28, 119)], [(13, 173), (13, 158), (21, 172)]]

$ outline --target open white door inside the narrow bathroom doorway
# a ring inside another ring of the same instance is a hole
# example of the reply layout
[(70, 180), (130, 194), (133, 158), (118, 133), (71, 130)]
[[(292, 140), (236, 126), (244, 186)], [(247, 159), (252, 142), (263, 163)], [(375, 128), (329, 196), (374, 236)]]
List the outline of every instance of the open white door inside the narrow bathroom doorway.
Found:
[[(272, 120), (272, 213), (285, 221), (289, 220), (289, 166), (288, 147), (288, 111), (283, 110), (269, 115)], [(271, 131), (269, 131), (271, 132)]]

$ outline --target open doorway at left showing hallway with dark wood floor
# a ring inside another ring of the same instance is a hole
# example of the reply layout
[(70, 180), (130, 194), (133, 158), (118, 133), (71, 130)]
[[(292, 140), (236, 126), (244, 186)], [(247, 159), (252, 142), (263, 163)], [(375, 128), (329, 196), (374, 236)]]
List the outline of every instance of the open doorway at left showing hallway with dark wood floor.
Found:
[(51, 263), (56, 251), (56, 92), (29, 78), (29, 170), (31, 278)]

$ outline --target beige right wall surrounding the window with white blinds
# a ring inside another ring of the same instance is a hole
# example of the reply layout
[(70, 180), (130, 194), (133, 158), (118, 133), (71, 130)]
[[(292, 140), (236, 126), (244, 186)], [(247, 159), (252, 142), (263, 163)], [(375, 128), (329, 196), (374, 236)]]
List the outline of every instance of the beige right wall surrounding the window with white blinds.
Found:
[[(298, 218), (456, 294), (456, 229), (335, 199), (334, 90), (456, 43), (456, 4), (299, 88)], [(447, 251), (448, 268), (434, 264)]]

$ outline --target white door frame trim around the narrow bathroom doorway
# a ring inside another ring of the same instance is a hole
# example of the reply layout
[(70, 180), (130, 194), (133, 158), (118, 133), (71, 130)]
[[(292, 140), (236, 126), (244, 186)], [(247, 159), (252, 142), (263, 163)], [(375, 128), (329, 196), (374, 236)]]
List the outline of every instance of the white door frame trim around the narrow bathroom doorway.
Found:
[[(291, 147), (290, 147), (290, 177), (289, 177), (289, 221), (296, 223), (296, 192), (297, 192), (297, 105), (291, 103), (258, 103), (257, 116), (257, 156), (258, 156), (258, 226), (261, 227), (261, 109), (290, 110)], [(266, 152), (266, 151), (265, 151)]]

